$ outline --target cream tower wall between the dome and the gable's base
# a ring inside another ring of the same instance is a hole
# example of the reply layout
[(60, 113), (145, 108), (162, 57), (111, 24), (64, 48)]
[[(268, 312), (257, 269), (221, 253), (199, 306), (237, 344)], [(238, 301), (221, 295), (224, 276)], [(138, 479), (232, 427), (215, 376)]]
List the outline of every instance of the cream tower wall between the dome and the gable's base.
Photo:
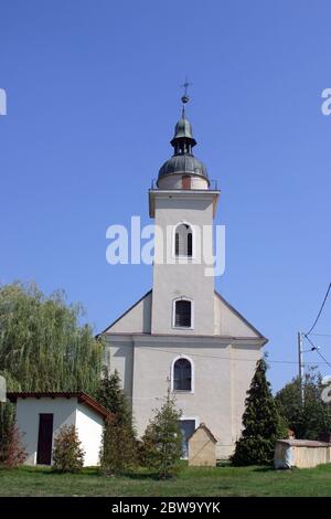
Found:
[[(191, 194), (191, 193), (190, 193)], [(162, 229), (162, 236), (156, 233), (156, 261), (153, 265), (152, 295), (152, 333), (173, 333), (172, 304), (177, 297), (185, 296), (194, 301), (194, 329), (177, 329), (181, 335), (213, 335), (214, 333), (214, 278), (205, 276), (206, 264), (194, 257), (196, 240), (193, 232), (193, 258), (189, 264), (174, 263), (173, 237), (167, 236), (167, 226), (174, 231), (175, 226), (185, 222), (202, 233), (203, 225), (213, 224), (214, 195), (209, 192), (181, 197), (154, 194), (156, 225)], [(168, 240), (167, 240), (168, 237)], [(213, 252), (212, 236), (207, 244)], [(161, 263), (173, 257), (174, 264)], [(162, 258), (162, 260), (161, 260)]]

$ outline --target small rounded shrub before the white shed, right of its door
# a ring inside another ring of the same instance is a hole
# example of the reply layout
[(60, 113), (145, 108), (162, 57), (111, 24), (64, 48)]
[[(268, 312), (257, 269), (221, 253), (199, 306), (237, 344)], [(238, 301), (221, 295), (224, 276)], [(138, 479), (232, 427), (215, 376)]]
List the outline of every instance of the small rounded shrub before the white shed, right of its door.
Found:
[(54, 438), (52, 470), (78, 473), (84, 465), (84, 451), (74, 425), (63, 425)]

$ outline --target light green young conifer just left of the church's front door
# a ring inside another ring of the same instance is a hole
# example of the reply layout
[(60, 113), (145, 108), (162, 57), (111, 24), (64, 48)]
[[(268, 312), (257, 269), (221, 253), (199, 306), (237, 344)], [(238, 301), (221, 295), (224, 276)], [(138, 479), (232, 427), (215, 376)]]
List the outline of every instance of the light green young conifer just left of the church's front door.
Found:
[(181, 458), (182, 433), (179, 420), (182, 412), (168, 391), (160, 410), (154, 410), (142, 437), (141, 457), (143, 463), (158, 472), (160, 478), (171, 476)]

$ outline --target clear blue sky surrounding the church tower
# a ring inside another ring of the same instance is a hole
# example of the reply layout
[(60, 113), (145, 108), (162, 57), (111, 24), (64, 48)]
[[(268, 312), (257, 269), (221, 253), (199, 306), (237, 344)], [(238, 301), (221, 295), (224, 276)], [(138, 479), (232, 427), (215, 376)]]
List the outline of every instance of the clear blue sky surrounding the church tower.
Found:
[(269, 338), (279, 389), (331, 280), (330, 17), (322, 0), (0, 0), (1, 283), (64, 288), (96, 331), (150, 288), (151, 267), (106, 263), (105, 233), (149, 223), (188, 75), (195, 155), (222, 190), (217, 289)]

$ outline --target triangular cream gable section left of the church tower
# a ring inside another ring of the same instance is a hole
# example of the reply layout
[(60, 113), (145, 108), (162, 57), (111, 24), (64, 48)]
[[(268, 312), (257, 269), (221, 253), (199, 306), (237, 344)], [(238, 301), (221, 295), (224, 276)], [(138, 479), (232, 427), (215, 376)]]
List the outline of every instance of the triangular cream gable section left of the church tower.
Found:
[(151, 299), (152, 290), (149, 290), (106, 328), (104, 333), (150, 333)]

